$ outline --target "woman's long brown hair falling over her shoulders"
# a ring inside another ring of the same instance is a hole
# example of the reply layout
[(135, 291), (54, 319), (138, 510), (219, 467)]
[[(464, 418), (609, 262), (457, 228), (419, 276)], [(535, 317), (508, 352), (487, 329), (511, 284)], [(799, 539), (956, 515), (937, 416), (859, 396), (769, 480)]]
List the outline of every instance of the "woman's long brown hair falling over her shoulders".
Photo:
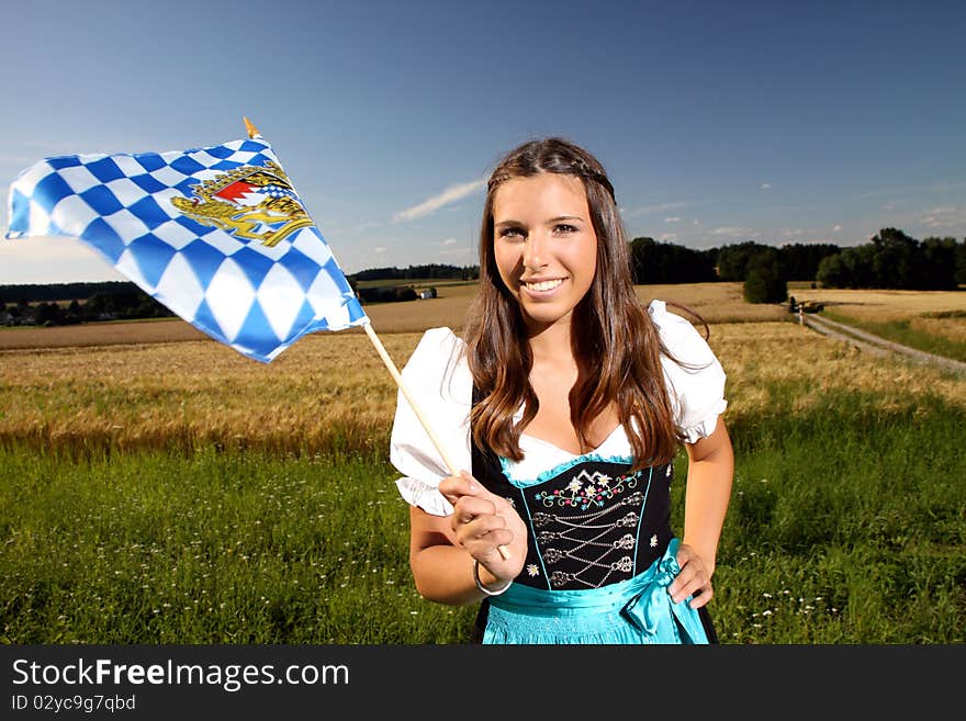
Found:
[[(541, 172), (582, 180), (597, 235), (597, 271), (573, 316), (572, 350), (579, 374), (570, 391), (570, 408), (581, 447), (591, 448), (592, 421), (616, 402), (634, 469), (666, 463), (682, 441), (660, 360), (662, 352), (667, 353), (633, 289), (614, 188), (593, 155), (559, 137), (520, 145), (490, 177), (480, 230), (480, 290), (463, 328), (470, 372), (481, 394), (472, 410), (473, 440), (480, 448), (520, 461), (520, 433), (537, 415), (539, 402), (529, 381), (533, 359), (523, 313), (494, 258), (493, 202), (504, 181)], [(517, 425), (513, 416), (521, 402), (524, 417)]]

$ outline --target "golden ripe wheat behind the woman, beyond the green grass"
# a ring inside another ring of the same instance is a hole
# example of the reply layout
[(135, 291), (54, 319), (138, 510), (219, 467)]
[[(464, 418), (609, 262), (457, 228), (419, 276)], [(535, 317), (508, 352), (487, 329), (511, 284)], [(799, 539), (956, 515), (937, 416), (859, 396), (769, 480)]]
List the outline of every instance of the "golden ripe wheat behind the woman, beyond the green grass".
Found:
[[(699, 312), (712, 301), (729, 302), (727, 294), (712, 298), (708, 293), (698, 302), (694, 294), (681, 296)], [(438, 307), (439, 315), (428, 317), (431, 325), (445, 325), (446, 314), (452, 313), (449, 305)], [(417, 320), (393, 323), (393, 316), (375, 313), (402, 314), (404, 307), (372, 309), (374, 327), (381, 317), (385, 328), (403, 329), (380, 333), (402, 369), (422, 335), (408, 330), (407, 323)], [(798, 325), (780, 307), (765, 311), (779, 313), (780, 319), (710, 322), (709, 342), (728, 373), (731, 417), (773, 410), (773, 388), (779, 385), (796, 390), (782, 399), (789, 413), (808, 409), (838, 391), (874, 393), (883, 407), (894, 396), (920, 393), (966, 405), (966, 384), (955, 375), (864, 356)], [(378, 450), (385, 442), (397, 391), (361, 330), (306, 336), (270, 364), (206, 338), (134, 341), (143, 328), (172, 325), (126, 324), (132, 338), (123, 343), (114, 342), (115, 337), (105, 345), (0, 351), (0, 439), (38, 447), (116, 448), (214, 441), (295, 451), (340, 446)]]

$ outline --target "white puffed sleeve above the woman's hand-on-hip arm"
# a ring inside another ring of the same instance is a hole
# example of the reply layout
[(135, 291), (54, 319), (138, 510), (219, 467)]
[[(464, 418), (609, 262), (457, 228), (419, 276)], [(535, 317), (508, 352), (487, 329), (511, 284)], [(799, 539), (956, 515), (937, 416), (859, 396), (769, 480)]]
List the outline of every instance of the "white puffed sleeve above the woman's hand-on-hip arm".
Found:
[(664, 347), (677, 361), (661, 356), (675, 423), (688, 443), (707, 438), (724, 413), (724, 369), (697, 329), (667, 311), (663, 301), (648, 307)]

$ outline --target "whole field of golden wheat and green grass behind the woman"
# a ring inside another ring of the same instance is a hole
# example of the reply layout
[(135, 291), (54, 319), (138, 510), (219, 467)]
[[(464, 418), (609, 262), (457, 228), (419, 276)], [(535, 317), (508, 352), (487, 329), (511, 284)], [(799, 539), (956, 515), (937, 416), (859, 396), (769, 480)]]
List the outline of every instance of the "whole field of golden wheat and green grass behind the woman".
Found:
[[(367, 312), (402, 368), (470, 292)], [(700, 313), (728, 374), (722, 641), (963, 642), (966, 379), (737, 284), (639, 293)], [(425, 601), (408, 573), (396, 397), (359, 329), (270, 364), (179, 320), (0, 330), (0, 642), (463, 642), (474, 609)]]

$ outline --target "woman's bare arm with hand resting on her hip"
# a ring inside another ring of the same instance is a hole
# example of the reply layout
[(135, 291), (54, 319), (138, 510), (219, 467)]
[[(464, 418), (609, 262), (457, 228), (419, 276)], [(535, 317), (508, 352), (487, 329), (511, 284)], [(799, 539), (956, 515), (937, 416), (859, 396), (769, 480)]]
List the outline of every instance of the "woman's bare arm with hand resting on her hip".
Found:
[(707, 438), (685, 443), (687, 487), (684, 502), (684, 538), (677, 552), (681, 574), (669, 590), (675, 601), (694, 594), (695, 608), (711, 599), (711, 576), (718, 555), (718, 540), (734, 476), (734, 454), (724, 419)]

